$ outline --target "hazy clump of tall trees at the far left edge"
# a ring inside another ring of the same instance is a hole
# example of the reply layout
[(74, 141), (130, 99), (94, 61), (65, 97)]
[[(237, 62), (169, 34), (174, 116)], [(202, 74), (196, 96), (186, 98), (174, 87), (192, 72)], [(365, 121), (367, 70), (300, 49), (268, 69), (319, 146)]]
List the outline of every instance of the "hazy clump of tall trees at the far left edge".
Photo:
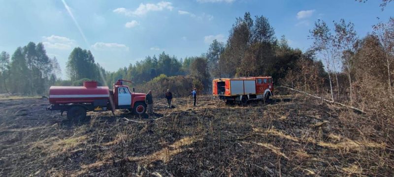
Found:
[(10, 56), (0, 54), (0, 92), (44, 94), (60, 73), (59, 63), (49, 58), (42, 43), (29, 42)]

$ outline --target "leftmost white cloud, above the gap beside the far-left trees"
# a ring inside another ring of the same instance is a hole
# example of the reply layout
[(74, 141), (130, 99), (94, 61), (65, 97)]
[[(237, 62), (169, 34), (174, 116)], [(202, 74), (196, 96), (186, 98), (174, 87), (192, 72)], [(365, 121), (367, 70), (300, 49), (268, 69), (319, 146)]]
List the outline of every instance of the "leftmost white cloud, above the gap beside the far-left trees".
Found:
[(45, 48), (59, 50), (70, 50), (76, 45), (74, 40), (57, 35), (43, 36), (42, 44), (44, 44)]

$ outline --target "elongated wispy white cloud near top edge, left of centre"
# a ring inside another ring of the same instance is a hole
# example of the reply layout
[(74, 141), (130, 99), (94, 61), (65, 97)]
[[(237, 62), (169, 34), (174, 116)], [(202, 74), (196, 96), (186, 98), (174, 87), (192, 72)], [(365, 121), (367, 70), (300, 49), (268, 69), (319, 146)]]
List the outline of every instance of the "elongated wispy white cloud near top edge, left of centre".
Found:
[(148, 13), (149, 11), (163, 11), (163, 10), (172, 10), (174, 7), (171, 2), (161, 1), (159, 3), (140, 3), (138, 8), (135, 10), (129, 10), (126, 8), (117, 8), (113, 10), (115, 13), (123, 14), (126, 16), (142, 16)]

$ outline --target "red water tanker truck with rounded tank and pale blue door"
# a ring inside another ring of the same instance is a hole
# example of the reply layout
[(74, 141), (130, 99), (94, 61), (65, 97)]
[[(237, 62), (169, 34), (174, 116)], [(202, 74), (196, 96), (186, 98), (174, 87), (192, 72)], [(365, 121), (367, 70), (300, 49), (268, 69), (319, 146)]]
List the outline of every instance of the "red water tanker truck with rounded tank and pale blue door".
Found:
[(59, 110), (62, 115), (67, 112), (69, 119), (86, 117), (86, 112), (113, 111), (128, 109), (135, 115), (146, 112), (145, 93), (131, 92), (128, 86), (123, 85), (127, 80), (118, 80), (113, 89), (98, 87), (96, 81), (84, 81), (82, 87), (52, 86), (49, 89), (49, 102), (47, 110)]

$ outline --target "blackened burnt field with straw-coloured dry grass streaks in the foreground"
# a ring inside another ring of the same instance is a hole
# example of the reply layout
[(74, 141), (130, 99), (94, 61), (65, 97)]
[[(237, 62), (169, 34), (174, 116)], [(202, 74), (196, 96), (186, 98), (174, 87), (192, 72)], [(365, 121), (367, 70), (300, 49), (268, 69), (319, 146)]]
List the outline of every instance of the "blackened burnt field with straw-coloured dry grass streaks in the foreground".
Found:
[(302, 95), (154, 101), (149, 118), (121, 110), (75, 122), (46, 99), (0, 100), (0, 176), (393, 176), (393, 155), (349, 125), (362, 117), (351, 110)]

